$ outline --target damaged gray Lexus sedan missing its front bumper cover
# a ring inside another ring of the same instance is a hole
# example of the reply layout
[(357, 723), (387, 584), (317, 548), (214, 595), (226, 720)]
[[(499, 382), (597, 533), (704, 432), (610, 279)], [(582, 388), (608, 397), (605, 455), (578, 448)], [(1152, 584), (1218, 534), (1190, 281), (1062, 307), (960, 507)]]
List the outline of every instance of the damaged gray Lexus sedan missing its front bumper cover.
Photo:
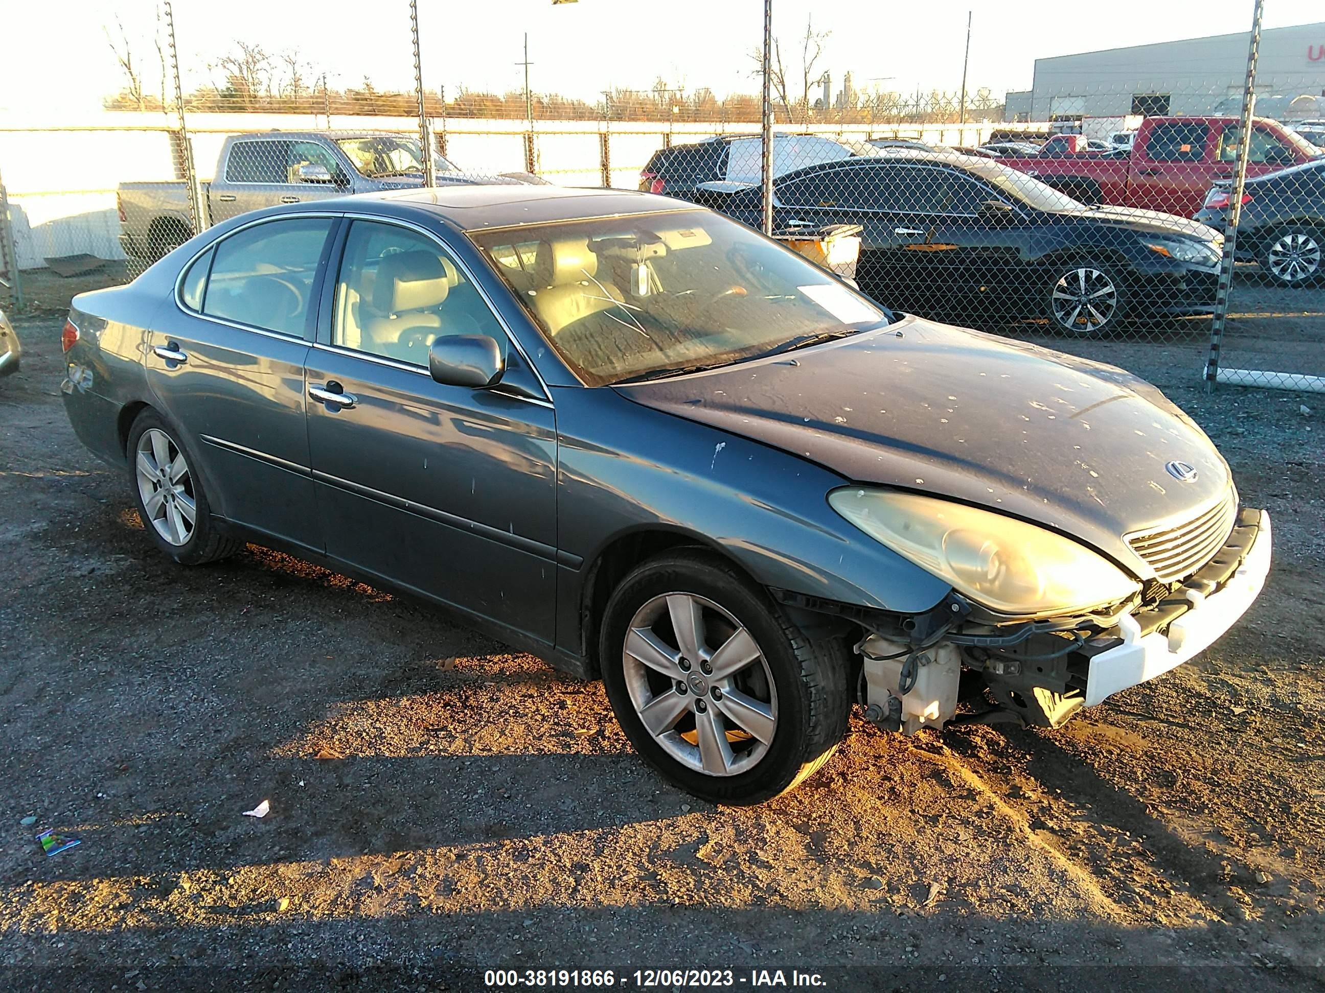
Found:
[(245, 214), (83, 294), (65, 406), (187, 565), (245, 540), (602, 678), (698, 796), (880, 728), (1056, 727), (1252, 604), (1269, 519), (1108, 365), (894, 314), (660, 196)]

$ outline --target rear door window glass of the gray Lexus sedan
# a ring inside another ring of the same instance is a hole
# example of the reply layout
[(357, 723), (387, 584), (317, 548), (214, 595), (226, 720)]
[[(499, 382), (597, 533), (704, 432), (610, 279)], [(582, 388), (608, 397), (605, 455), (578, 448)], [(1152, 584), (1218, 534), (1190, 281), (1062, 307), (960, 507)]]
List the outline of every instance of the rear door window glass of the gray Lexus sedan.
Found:
[(215, 249), (203, 312), (301, 338), (331, 224), (330, 217), (266, 221), (224, 238)]

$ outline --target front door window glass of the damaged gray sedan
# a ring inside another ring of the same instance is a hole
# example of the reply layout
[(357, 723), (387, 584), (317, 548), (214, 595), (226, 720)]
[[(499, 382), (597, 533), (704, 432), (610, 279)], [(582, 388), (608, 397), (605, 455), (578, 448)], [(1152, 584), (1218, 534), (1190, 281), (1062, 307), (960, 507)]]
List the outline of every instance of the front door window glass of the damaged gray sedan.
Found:
[(506, 332), (478, 290), (432, 238), (395, 224), (355, 221), (337, 281), (331, 343), (384, 359), (428, 364), (443, 335)]

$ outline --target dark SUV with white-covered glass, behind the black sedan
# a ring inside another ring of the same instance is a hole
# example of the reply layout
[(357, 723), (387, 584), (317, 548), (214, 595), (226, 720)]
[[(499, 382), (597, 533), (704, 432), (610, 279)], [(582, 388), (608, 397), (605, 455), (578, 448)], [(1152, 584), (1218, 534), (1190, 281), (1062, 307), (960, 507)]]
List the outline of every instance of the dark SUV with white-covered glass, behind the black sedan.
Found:
[[(852, 155), (869, 155), (872, 151), (860, 142), (779, 134), (772, 139), (772, 175)], [(640, 172), (640, 189), (693, 200), (701, 187), (758, 183), (762, 175), (763, 139), (759, 135), (718, 135), (656, 151)]]

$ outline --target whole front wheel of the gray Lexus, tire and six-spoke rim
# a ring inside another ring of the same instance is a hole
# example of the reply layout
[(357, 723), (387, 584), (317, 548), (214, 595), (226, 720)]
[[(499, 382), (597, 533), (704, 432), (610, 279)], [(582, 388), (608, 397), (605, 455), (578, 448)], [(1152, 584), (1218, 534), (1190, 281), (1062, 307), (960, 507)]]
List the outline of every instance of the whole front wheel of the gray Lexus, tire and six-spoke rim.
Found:
[(627, 737), (681, 789), (758, 804), (819, 769), (847, 731), (847, 658), (812, 642), (717, 556), (637, 565), (607, 602), (603, 682)]

